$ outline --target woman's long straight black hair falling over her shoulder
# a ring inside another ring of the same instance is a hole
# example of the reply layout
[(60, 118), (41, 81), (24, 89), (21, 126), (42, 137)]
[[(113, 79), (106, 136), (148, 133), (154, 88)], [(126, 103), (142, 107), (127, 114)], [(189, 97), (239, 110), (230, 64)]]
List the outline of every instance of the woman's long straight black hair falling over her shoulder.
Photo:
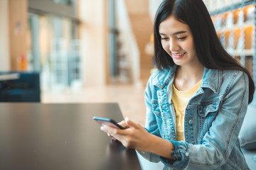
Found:
[(216, 34), (210, 14), (202, 0), (164, 0), (156, 11), (154, 21), (154, 48), (156, 67), (166, 69), (174, 66), (174, 60), (161, 45), (159, 25), (169, 16), (186, 23), (191, 29), (196, 55), (208, 69), (234, 69), (245, 72), (249, 78), (249, 103), (252, 101), (255, 84), (250, 73), (226, 52)]

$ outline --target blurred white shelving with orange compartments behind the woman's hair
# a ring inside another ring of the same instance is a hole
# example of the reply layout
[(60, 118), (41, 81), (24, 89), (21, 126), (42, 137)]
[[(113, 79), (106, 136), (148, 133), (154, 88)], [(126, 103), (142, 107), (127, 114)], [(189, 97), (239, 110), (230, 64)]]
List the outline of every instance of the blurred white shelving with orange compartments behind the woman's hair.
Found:
[(256, 0), (204, 0), (223, 47), (256, 83)]

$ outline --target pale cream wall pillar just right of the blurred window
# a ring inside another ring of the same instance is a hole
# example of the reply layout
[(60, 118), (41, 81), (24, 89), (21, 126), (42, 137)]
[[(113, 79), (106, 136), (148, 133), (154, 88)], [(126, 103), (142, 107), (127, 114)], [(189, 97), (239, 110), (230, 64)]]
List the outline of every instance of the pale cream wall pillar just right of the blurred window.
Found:
[(107, 82), (106, 3), (105, 0), (81, 0), (78, 4), (85, 86), (103, 86)]

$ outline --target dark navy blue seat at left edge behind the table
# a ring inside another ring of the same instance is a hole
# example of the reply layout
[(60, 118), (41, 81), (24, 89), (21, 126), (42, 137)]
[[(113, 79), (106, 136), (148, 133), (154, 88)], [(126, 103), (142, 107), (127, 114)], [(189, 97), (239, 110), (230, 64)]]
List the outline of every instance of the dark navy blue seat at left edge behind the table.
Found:
[(18, 73), (18, 79), (0, 81), (0, 102), (41, 102), (38, 73), (1, 72), (0, 75)]

